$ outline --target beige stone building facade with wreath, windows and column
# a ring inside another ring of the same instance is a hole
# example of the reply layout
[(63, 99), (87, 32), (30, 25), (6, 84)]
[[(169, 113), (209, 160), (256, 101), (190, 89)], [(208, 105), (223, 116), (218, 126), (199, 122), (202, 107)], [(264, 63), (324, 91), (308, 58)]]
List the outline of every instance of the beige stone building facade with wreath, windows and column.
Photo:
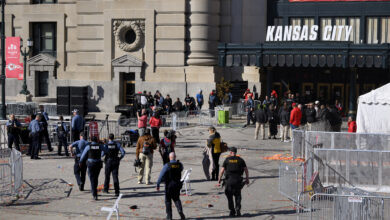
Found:
[[(217, 46), (263, 41), (266, 8), (266, 0), (8, 0), (5, 28), (34, 40), (35, 100), (55, 100), (57, 86), (89, 86), (90, 111), (112, 112), (134, 92), (183, 99), (208, 94), (222, 77), (260, 89), (257, 67), (218, 67)], [(7, 79), (7, 99), (21, 86)]]

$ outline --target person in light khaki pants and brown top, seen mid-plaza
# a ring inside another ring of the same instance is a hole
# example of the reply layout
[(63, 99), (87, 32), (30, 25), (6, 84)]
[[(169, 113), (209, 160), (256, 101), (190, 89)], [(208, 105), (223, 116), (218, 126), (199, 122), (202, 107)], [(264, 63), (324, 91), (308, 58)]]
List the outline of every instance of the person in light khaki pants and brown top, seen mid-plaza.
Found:
[[(138, 138), (136, 147), (136, 160), (141, 161), (138, 171), (138, 184), (142, 184), (145, 179), (146, 185), (150, 185), (150, 174), (153, 166), (153, 151), (157, 148), (154, 138), (150, 135), (150, 129), (147, 128), (143, 136)], [(145, 178), (144, 178), (145, 177)]]

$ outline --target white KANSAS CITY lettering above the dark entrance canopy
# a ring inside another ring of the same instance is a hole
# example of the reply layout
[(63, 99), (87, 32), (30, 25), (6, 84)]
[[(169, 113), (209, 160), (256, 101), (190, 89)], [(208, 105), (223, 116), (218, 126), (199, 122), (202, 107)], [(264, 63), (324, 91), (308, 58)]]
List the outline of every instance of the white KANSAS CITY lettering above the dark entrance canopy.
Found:
[(318, 25), (312, 26), (268, 26), (266, 41), (349, 41), (352, 26), (327, 25), (322, 33), (318, 33)]

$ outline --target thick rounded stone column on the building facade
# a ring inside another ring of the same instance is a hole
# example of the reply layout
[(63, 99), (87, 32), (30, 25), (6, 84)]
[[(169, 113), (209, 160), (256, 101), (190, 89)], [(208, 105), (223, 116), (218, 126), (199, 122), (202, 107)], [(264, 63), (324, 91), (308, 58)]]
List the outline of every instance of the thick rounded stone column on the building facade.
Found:
[(189, 0), (189, 55), (187, 64), (209, 66), (217, 63), (220, 0)]

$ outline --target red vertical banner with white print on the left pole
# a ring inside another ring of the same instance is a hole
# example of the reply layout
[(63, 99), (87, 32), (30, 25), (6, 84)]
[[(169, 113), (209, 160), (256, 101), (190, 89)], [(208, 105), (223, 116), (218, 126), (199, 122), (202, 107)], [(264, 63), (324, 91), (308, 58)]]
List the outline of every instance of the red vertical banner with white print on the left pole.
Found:
[(20, 37), (5, 39), (5, 75), (7, 78), (23, 79), (23, 64), (20, 61)]

